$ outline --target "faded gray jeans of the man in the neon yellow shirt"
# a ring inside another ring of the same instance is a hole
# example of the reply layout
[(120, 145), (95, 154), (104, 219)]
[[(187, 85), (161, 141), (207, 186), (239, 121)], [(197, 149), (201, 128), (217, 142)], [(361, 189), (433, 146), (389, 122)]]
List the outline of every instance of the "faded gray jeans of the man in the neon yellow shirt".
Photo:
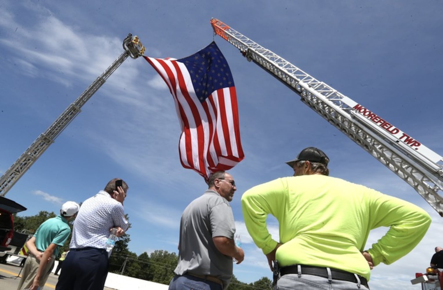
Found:
[[(277, 281), (275, 290), (368, 290), (366, 286), (343, 280), (331, 280), (314, 275), (286, 274)], [(171, 288), (170, 288), (171, 290)]]

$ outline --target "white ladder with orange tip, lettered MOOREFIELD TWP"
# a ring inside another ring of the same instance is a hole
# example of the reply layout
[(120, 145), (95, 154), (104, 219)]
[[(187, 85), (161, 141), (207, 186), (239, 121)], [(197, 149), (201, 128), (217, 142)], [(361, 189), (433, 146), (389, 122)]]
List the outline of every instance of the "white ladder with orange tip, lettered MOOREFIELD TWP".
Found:
[(337, 90), (272, 51), (211, 19), (220, 35), (249, 60), (283, 82), (320, 116), (411, 185), (443, 216), (443, 157)]

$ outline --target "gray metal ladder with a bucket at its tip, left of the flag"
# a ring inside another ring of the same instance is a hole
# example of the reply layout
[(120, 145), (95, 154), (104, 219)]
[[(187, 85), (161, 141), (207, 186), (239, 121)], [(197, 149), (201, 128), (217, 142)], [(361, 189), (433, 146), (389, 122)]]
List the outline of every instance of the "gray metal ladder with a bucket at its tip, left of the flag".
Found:
[(42, 133), (31, 146), (17, 159), (17, 161), (0, 178), (0, 196), (5, 196), (9, 189), (21, 176), (34, 164), (35, 161), (54, 143), (55, 138), (62, 133), (63, 129), (80, 113), (82, 106), (92, 95), (106, 82), (109, 76), (120, 67), (130, 56), (138, 58), (144, 53), (144, 46), (137, 36), (129, 35), (123, 41), (124, 52), (101, 74), (66, 110)]

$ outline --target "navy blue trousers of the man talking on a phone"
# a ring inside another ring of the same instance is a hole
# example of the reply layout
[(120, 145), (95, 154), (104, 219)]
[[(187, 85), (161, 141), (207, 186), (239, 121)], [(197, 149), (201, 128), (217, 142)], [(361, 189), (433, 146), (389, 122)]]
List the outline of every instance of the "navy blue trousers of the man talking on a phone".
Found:
[(70, 249), (55, 290), (103, 290), (108, 275), (105, 249)]

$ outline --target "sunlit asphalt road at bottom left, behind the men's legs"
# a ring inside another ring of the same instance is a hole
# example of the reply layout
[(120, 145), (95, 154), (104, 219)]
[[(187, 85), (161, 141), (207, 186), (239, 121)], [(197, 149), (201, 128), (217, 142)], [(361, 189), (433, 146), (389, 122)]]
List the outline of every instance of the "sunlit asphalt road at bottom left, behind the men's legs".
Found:
[[(0, 263), (0, 289), (1, 290), (16, 290), (19, 286), (20, 277), (18, 277), (21, 268), (15, 264), (1, 264)], [(58, 276), (49, 274), (49, 278), (45, 284), (44, 289), (55, 289)], [(113, 290), (105, 287), (104, 290)]]

